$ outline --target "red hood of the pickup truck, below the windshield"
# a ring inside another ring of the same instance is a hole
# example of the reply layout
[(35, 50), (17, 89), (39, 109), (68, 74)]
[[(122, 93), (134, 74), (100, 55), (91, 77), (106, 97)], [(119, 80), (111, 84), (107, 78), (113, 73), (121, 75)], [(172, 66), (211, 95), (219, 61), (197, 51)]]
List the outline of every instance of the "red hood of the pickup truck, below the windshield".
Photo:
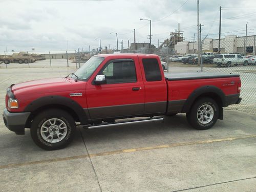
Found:
[(73, 83), (77, 82), (73, 79), (62, 77), (32, 80), (15, 84), (12, 86), (12, 92), (16, 95), (71, 91), (75, 89), (72, 86)]

